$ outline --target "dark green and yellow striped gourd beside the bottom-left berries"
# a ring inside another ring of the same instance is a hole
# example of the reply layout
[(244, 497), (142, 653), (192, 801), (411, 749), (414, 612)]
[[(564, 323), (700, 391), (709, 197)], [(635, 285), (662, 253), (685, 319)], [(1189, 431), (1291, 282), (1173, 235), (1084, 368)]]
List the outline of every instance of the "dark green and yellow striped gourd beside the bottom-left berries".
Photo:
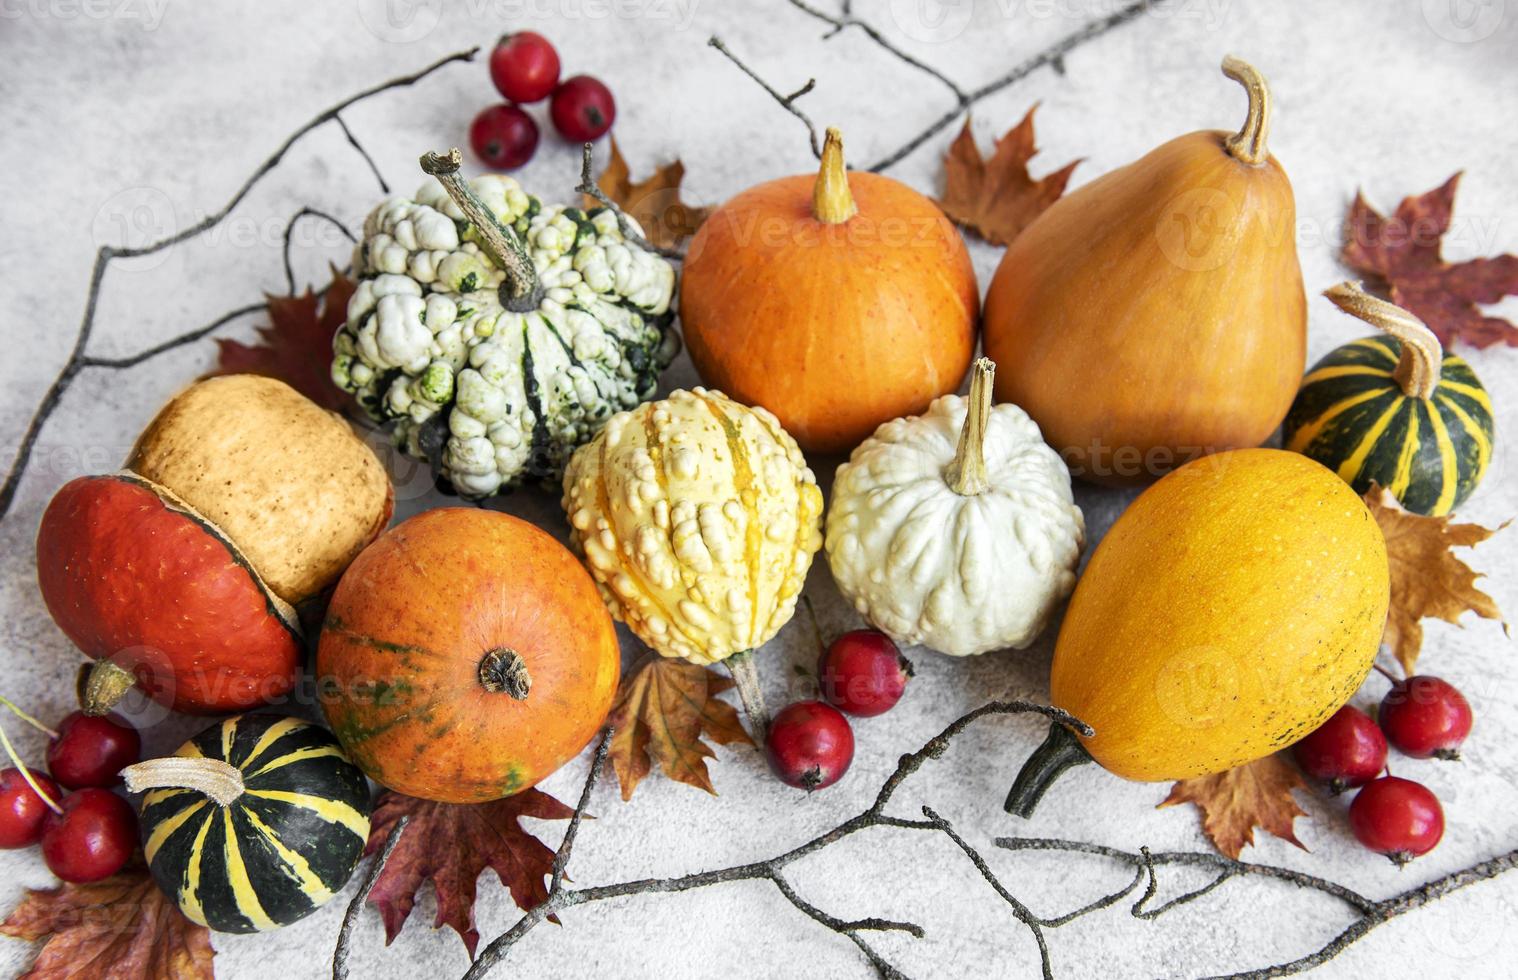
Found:
[(149, 790), (143, 847), (158, 887), (217, 931), (305, 918), (342, 890), (369, 839), (363, 771), (298, 718), (228, 718), (121, 775)]

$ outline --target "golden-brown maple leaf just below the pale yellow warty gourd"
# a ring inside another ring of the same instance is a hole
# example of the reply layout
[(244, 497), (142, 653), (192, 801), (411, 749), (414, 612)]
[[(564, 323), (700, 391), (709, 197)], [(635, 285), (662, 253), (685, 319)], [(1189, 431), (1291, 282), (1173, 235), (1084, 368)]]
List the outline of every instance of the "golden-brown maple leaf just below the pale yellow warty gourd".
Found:
[(706, 771), (706, 760), (715, 754), (701, 736), (718, 745), (754, 743), (738, 721), (738, 710), (716, 698), (732, 686), (713, 671), (657, 654), (633, 666), (607, 719), (616, 730), (607, 754), (616, 766), (622, 799), (633, 798), (654, 762), (671, 780), (716, 793)]

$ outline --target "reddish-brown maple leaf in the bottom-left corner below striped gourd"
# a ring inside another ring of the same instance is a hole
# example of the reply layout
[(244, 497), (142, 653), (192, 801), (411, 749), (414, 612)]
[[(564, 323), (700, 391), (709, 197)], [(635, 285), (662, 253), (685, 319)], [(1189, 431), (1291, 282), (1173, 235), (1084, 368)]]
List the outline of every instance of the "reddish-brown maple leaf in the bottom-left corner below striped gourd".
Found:
[(46, 939), (29, 980), (209, 980), (211, 931), (168, 901), (141, 865), (91, 884), (27, 889), (0, 933)]

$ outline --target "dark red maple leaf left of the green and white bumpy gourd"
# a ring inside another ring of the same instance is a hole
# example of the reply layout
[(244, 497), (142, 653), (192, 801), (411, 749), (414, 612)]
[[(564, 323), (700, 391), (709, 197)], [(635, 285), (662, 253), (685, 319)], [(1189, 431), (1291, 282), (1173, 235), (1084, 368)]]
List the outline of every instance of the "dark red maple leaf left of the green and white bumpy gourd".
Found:
[(332, 335), (348, 317), (354, 281), (332, 269), (332, 284), (317, 296), (269, 296), (269, 326), (258, 328), (258, 344), (217, 340), (213, 375), (276, 378), (322, 408), (343, 411), (349, 399), (332, 384)]

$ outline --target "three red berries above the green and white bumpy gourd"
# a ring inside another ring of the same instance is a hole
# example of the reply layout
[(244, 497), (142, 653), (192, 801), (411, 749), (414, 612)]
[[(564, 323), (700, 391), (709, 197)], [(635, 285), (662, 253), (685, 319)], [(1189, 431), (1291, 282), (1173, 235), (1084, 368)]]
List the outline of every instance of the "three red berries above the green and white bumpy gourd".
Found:
[(493, 105), (469, 124), (469, 146), (495, 170), (515, 170), (537, 152), (537, 123), (524, 105), (548, 103), (554, 129), (571, 143), (600, 140), (616, 121), (612, 90), (589, 74), (559, 80), (559, 52), (540, 33), (518, 30), (490, 52), (490, 80), (507, 102)]

